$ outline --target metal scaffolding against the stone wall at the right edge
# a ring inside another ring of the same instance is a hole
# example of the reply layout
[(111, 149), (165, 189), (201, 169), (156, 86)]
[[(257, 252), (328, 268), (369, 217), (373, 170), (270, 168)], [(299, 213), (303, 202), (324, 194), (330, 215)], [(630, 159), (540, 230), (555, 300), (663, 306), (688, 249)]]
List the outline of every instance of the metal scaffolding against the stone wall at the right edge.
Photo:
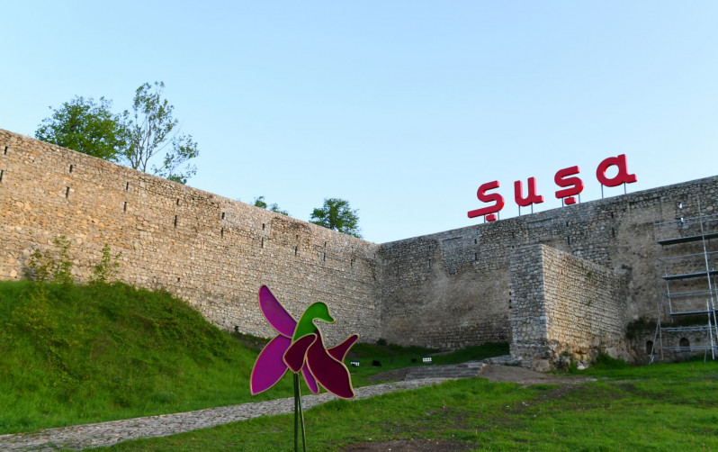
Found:
[[(678, 209), (682, 212), (682, 203)], [(697, 213), (654, 223), (664, 290), (651, 344), (651, 363), (658, 355), (659, 344), (660, 359), (664, 350), (679, 355), (703, 351), (704, 360), (709, 352), (712, 359), (718, 354), (718, 214), (703, 214), (700, 200)], [(683, 254), (672, 254), (677, 251)], [(692, 344), (688, 337), (696, 341)], [(705, 341), (700, 340), (703, 337)]]

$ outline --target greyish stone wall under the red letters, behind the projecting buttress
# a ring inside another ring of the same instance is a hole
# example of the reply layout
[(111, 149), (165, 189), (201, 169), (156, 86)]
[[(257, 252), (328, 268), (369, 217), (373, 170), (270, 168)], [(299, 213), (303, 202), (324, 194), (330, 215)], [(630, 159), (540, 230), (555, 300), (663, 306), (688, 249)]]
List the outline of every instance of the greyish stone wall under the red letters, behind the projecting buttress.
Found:
[(699, 201), (718, 212), (718, 176), (382, 244), (381, 334), (437, 348), (510, 340), (511, 252), (537, 244), (625, 276), (627, 320), (655, 318), (654, 222), (695, 216)]

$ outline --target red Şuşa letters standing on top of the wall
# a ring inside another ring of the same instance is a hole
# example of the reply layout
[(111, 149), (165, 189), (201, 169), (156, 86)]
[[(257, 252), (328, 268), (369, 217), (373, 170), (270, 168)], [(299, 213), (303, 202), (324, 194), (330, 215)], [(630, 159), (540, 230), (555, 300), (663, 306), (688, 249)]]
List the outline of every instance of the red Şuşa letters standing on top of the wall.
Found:
[[(618, 174), (613, 177), (606, 176), (606, 171), (609, 167), (617, 167)], [(583, 181), (579, 176), (579, 167), (567, 167), (556, 171), (556, 175), (553, 176), (553, 182), (556, 183), (561, 190), (556, 191), (556, 198), (562, 199), (566, 205), (576, 203), (577, 194), (583, 191)], [(622, 184), (633, 184), (636, 182), (636, 175), (628, 172), (628, 164), (626, 162), (625, 154), (621, 154), (616, 157), (606, 158), (604, 161), (598, 164), (596, 168), (596, 178), (601, 185), (604, 186), (617, 186)], [(537, 194), (536, 190), (536, 178), (529, 177), (527, 181), (527, 193), (524, 196), (524, 183), (523, 181), (517, 180), (514, 182), (514, 200), (520, 207), (527, 207), (531, 204), (543, 203), (543, 196)], [(496, 192), (489, 193), (490, 190), (498, 188), (498, 180), (487, 182), (486, 184), (480, 185), (479, 190), (476, 192), (476, 197), (482, 203), (491, 203), (486, 207), (469, 211), (469, 218), (480, 217), (486, 215), (486, 221), (495, 221), (497, 219), (497, 213), (504, 208), (504, 197)]]

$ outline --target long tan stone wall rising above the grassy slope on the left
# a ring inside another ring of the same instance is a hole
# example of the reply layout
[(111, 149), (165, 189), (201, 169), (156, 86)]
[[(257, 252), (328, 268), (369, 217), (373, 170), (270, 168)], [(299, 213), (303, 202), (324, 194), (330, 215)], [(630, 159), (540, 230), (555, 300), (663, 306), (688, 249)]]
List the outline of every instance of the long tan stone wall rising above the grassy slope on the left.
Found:
[(295, 318), (328, 303), (329, 341), (379, 337), (377, 245), (2, 130), (0, 171), (0, 278), (65, 235), (78, 281), (106, 243), (122, 280), (166, 287), (227, 330), (274, 334), (256, 303), (268, 285)]

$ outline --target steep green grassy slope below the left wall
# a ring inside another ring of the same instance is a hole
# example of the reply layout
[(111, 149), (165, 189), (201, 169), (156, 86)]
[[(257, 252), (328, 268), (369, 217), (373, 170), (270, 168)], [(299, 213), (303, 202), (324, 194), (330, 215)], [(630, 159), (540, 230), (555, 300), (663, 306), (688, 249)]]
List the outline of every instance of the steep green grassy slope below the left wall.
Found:
[(0, 433), (292, 395), (249, 395), (257, 352), (166, 292), (0, 282)]

